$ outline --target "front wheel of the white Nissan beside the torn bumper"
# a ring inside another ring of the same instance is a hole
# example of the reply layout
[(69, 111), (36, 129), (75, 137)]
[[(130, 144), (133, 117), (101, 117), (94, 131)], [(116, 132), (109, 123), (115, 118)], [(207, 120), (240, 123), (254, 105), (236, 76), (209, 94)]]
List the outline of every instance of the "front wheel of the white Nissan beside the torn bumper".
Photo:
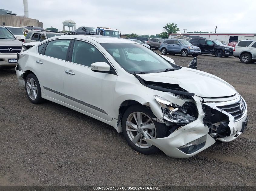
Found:
[(122, 117), (122, 130), (124, 137), (135, 151), (142, 154), (155, 154), (159, 148), (148, 144), (145, 138), (162, 138), (167, 136), (167, 127), (156, 122), (155, 115), (146, 106), (133, 105), (129, 107)]

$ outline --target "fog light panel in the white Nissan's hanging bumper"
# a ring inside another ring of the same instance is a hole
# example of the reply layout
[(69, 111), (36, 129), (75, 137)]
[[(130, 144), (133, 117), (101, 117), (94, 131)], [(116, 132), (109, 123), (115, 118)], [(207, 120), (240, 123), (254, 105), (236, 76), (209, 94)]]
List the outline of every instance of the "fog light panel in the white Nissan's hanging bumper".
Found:
[(195, 151), (198, 151), (200, 148), (203, 148), (205, 143), (206, 143), (206, 135), (204, 135), (194, 141), (191, 141), (186, 145), (183, 145), (183, 146), (177, 147), (177, 148), (186, 154), (191, 154)]

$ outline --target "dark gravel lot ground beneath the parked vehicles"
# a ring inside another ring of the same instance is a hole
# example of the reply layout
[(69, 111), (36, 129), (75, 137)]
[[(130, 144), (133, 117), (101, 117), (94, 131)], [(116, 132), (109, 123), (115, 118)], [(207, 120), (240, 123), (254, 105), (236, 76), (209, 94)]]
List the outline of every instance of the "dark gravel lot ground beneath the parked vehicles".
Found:
[[(192, 59), (168, 56), (181, 66)], [(188, 159), (139, 154), (105, 123), (47, 100), (34, 105), (15, 70), (0, 70), (0, 185), (255, 185), (256, 64), (201, 55), (198, 69), (233, 85), (250, 119), (233, 142)]]

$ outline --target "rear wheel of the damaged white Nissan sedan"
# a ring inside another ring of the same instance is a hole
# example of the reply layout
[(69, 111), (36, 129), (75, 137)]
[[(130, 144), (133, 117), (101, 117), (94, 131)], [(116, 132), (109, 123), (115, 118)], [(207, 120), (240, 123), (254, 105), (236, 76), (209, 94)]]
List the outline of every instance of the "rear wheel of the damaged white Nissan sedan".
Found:
[(30, 73), (25, 80), (26, 94), (29, 101), (34, 104), (41, 103), (43, 98), (41, 97), (41, 87), (37, 77)]

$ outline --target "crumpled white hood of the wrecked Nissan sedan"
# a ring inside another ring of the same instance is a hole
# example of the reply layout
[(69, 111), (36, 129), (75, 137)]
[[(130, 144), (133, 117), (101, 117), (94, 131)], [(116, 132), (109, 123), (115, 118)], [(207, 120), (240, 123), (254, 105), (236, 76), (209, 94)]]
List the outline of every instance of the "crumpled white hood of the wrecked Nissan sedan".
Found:
[(145, 81), (178, 84), (200, 97), (225, 97), (236, 93), (226, 81), (199, 70), (182, 67), (179, 70), (152, 74), (137, 74)]

